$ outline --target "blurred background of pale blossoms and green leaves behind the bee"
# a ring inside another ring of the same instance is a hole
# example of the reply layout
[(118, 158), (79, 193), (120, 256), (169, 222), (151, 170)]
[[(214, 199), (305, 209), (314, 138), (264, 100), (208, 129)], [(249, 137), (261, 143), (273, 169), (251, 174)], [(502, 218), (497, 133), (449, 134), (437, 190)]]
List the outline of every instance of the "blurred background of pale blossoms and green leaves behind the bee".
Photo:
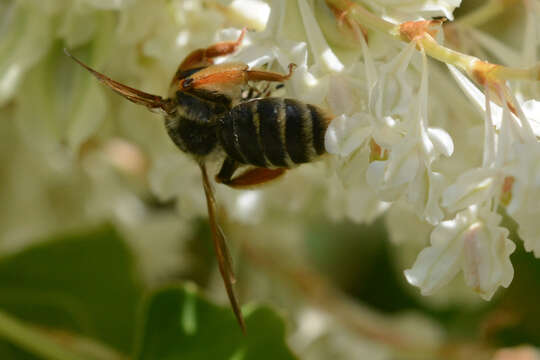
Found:
[[(485, 3), (464, 0), (456, 19)], [(525, 9), (500, 3), (477, 28), (517, 47)], [(540, 262), (520, 241), (514, 280), (491, 301), (461, 275), (421, 296), (403, 270), (431, 227), (399, 206), (358, 223), (324, 162), (262, 190), (216, 187), (241, 335), (197, 166), (160, 116), (62, 50), (164, 94), (191, 50), (222, 29), (262, 30), (269, 12), (263, 1), (0, 0), (0, 358), (538, 359)], [(501, 61), (447, 30), (450, 46)]]

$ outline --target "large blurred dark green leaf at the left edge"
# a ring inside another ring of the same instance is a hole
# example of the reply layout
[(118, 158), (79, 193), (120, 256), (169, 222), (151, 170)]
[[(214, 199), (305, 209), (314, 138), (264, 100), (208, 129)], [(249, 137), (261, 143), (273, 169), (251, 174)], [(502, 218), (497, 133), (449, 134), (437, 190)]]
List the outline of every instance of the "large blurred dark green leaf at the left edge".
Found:
[(0, 258), (0, 308), (129, 353), (142, 298), (134, 266), (110, 226), (43, 242)]

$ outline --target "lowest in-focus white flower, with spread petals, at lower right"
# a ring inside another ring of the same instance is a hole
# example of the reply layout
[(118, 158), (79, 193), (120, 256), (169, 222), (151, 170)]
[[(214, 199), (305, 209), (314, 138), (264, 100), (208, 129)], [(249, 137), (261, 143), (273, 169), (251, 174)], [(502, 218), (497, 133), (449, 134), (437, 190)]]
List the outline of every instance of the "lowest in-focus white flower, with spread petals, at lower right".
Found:
[(418, 254), (407, 281), (429, 295), (463, 271), (467, 285), (489, 300), (514, 276), (510, 254), (515, 244), (499, 225), (500, 215), (487, 208), (469, 207), (453, 220), (441, 222), (431, 233), (431, 245)]

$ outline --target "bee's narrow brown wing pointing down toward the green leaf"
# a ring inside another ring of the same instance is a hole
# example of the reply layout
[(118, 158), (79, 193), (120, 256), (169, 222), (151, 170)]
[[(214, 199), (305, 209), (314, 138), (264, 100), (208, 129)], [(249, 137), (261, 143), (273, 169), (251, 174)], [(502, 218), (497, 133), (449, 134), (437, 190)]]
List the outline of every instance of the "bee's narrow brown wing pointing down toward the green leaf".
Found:
[(240, 305), (238, 304), (238, 299), (233, 287), (236, 279), (234, 278), (231, 257), (225, 241), (225, 235), (223, 234), (223, 231), (216, 220), (216, 199), (214, 197), (210, 181), (208, 180), (208, 173), (206, 171), (205, 164), (200, 163), (199, 166), (201, 167), (202, 172), (204, 194), (206, 195), (206, 205), (208, 207), (208, 218), (210, 221), (210, 230), (212, 232), (212, 241), (214, 242), (214, 250), (216, 252), (219, 272), (223, 278), (223, 283), (225, 284), (225, 289), (227, 290), (227, 295), (229, 297), (234, 315), (236, 316), (236, 320), (238, 320), (240, 328), (245, 333), (246, 324), (244, 322), (244, 318), (242, 317)]

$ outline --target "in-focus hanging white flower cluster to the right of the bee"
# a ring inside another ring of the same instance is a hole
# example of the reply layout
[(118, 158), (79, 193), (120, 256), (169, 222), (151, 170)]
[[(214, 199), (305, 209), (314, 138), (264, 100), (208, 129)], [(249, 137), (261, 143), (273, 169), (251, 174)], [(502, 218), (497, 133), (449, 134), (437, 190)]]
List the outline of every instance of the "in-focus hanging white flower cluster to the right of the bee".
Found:
[[(533, 9), (538, 6), (536, 2), (528, 4)], [(450, 5), (436, 8), (445, 12)], [(508, 65), (534, 69), (538, 52), (535, 34), (540, 30), (537, 18), (537, 12), (529, 12), (523, 49), (528, 63)], [(535, 98), (540, 93), (530, 84), (508, 85), (494, 75), (496, 65), (464, 56), (471, 67), (461, 67), (484, 86), (480, 90), (448, 64), (456, 82), (484, 117), (484, 140), (482, 148), (476, 150), (482, 156), (481, 164), (464, 161), (451, 166), (458, 168), (457, 172), (445, 172), (448, 164), (439, 165), (441, 155), (449, 158), (447, 162), (460, 160), (452, 159), (454, 144), (445, 128), (458, 134), (463, 130), (449, 124), (452, 120), (441, 116), (441, 109), (428, 105), (434, 95), (442, 94), (427, 90), (424, 46), (425, 41), (433, 44), (433, 36), (440, 31), (425, 21), (404, 23), (399, 29), (409, 45), (402, 46), (390, 60), (373, 62), (368, 48), (363, 47), (364, 66), (372, 77), (366, 82), (367, 106), (359, 113), (338, 117), (330, 126), (326, 146), (345, 164), (338, 167), (338, 173), (344, 168), (349, 172), (346, 167), (359, 154), (369, 156), (365, 179), (378, 198), (405, 204), (435, 226), (430, 245), (405, 271), (409, 283), (420, 287), (423, 294), (431, 294), (461, 270), (466, 284), (489, 300), (499, 286), (507, 287), (513, 278), (509, 257), (515, 244), (508, 239), (508, 230), (500, 226), (499, 211), (506, 210), (514, 218), (525, 249), (539, 255), (540, 228), (534, 219), (540, 191), (540, 159), (536, 155), (540, 144), (535, 131), (540, 112)], [(489, 47), (493, 41), (485, 43)], [(534, 81), (534, 71), (531, 74)], [(452, 100), (448, 96), (447, 101)], [(473, 123), (461, 126), (471, 131), (475, 127)], [(467, 150), (475, 151), (472, 146)], [(399, 232), (399, 227), (394, 231)]]

